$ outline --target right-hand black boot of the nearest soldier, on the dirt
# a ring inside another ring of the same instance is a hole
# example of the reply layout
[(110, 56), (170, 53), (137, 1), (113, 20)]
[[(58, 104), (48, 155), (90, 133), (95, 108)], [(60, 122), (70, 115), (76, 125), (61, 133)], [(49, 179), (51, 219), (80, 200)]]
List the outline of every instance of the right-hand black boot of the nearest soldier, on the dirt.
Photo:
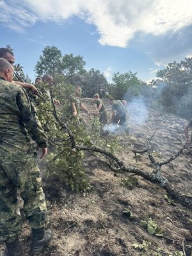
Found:
[(52, 239), (51, 229), (44, 230), (44, 228), (33, 229), (33, 239), (31, 245), (31, 252), (40, 252), (46, 244), (48, 244)]

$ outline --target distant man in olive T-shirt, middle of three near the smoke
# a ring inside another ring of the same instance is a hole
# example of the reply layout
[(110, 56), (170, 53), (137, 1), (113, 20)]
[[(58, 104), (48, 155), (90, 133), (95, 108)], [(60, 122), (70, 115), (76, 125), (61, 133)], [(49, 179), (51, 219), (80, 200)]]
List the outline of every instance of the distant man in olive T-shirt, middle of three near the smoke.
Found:
[(95, 93), (93, 95), (94, 107), (95, 107), (95, 115), (99, 116), (99, 122), (102, 125), (108, 123), (108, 113), (106, 111), (106, 107), (101, 99), (99, 99), (99, 94)]

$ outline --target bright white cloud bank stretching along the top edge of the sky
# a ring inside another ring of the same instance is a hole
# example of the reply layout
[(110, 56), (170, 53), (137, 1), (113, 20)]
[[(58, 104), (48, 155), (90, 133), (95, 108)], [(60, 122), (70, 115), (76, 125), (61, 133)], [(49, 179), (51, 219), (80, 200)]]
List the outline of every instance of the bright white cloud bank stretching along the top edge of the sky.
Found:
[[(17, 19), (15, 29), (23, 30), (36, 20), (62, 24), (76, 15), (95, 24), (100, 44), (117, 47), (126, 47), (138, 32), (163, 35), (192, 24), (191, 0), (15, 0), (11, 3), (10, 8), (0, 0), (0, 21), (13, 26)], [(178, 40), (182, 40), (182, 34)]]

